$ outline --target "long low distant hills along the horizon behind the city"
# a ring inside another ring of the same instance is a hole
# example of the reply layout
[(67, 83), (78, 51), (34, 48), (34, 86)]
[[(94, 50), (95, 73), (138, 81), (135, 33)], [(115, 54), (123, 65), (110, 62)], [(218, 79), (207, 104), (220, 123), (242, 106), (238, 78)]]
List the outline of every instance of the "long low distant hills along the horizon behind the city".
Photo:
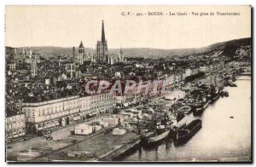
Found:
[[(127, 48), (123, 49), (123, 53), (126, 56), (133, 57), (144, 57), (144, 58), (158, 58), (158, 57), (166, 57), (173, 55), (198, 55), (202, 53), (211, 52), (212, 50), (223, 49), (224, 55), (232, 55), (236, 52), (236, 49), (242, 45), (251, 45), (251, 38), (241, 38), (230, 40), (222, 43), (214, 43), (207, 47), (203, 48), (195, 48), (195, 49), (150, 49), (150, 48)], [(14, 54), (15, 49), (11, 47), (5, 47), (6, 54)], [(72, 47), (71, 48), (61, 48), (61, 47), (51, 47), (51, 46), (42, 46), (42, 47), (31, 47), (32, 51), (41, 55), (72, 55)], [(22, 48), (18, 48), (18, 52), (22, 52)], [(76, 53), (78, 49), (76, 48)], [(95, 54), (96, 49), (85, 48), (85, 53)], [(119, 49), (108, 49), (108, 53), (119, 54)]]

